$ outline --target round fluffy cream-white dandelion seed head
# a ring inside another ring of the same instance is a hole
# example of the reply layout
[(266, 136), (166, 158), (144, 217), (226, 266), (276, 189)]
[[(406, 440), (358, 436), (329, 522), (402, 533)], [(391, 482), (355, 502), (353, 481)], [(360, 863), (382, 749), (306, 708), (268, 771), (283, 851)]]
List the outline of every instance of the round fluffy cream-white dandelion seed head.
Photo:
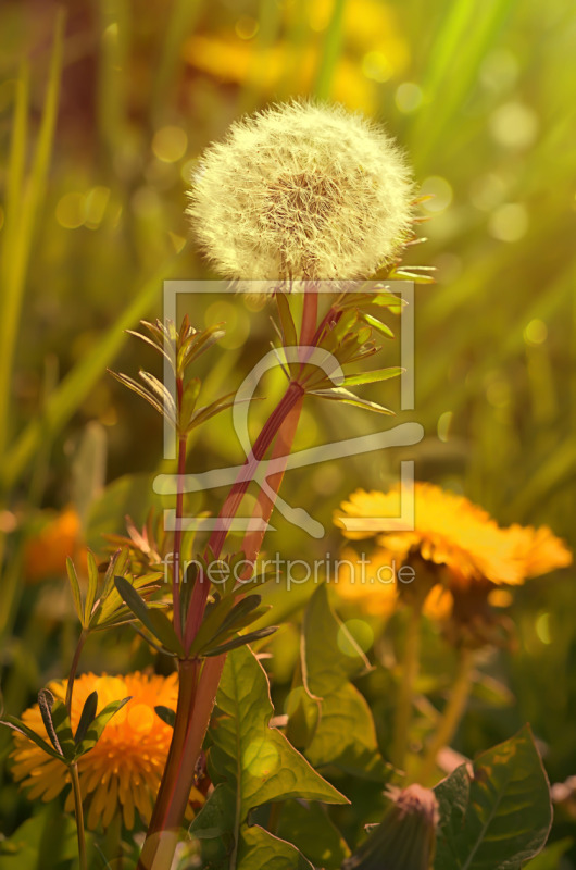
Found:
[(301, 101), (238, 121), (208, 148), (188, 214), (227, 277), (348, 281), (393, 260), (410, 232), (412, 195), (380, 127)]

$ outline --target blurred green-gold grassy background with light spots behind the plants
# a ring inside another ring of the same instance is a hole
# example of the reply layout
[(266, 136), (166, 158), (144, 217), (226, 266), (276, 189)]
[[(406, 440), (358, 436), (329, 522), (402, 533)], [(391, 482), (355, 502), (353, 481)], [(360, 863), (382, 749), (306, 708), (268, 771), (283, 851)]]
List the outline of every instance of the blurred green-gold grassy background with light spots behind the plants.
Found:
[[(425, 439), (292, 472), (285, 498), (329, 529), (348, 493), (385, 487), (414, 458), (417, 477), (576, 546), (575, 53), (569, 0), (3, 0), (0, 656), (12, 712), (65, 673), (75, 632), (58, 571), (25, 582), (35, 575), (26, 542), (70, 504), (96, 548), (127, 511), (143, 520), (161, 421), (105, 368), (159, 371), (123, 330), (162, 316), (163, 278), (214, 276), (187, 240), (188, 178), (203, 147), (270, 101), (312, 95), (384, 122), (431, 195), (420, 228), (428, 241), (409, 262), (437, 268), (436, 285), (416, 287), (415, 411), (395, 421), (418, 420)], [(192, 323), (228, 322), (226, 351), (202, 358), (206, 400), (267, 349), (268, 312), (253, 308), (190, 300)], [(386, 355), (393, 364), (398, 341)], [(281, 384), (265, 386), (272, 401)], [(393, 383), (368, 395), (399, 407)], [(254, 432), (270, 401), (254, 407)], [(381, 424), (326, 405), (306, 408), (297, 446)], [(190, 468), (242, 460), (230, 425), (218, 418), (199, 433)], [(191, 507), (217, 509), (220, 495)], [(322, 555), (326, 542), (314, 550), (278, 522), (274, 546)], [(278, 594), (278, 612), (304, 596)], [(576, 773), (574, 612), (574, 571), (518, 591), (517, 650), (486, 663), (515, 701), (479, 705), (459, 748), (473, 754), (529, 720), (552, 782)], [(278, 685), (295, 637), (287, 629), (276, 644)], [(85, 667), (147, 660), (118, 633), (88, 647)], [(27, 811), (5, 778), (0, 830)], [(574, 818), (573, 797), (558, 807), (554, 836)]]

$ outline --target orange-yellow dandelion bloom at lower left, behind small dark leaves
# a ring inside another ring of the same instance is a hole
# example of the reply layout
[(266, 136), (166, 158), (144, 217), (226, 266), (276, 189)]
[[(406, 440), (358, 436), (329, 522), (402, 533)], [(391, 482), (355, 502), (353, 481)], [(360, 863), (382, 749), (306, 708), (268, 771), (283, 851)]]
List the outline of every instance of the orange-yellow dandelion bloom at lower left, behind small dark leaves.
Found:
[[(53, 695), (63, 700), (66, 684), (63, 680), (49, 685)], [(125, 676), (101, 676), (86, 673), (74, 684), (71, 721), (75, 732), (84, 703), (88, 695), (98, 692), (98, 712), (110, 701), (132, 696), (108, 723), (102, 736), (91, 751), (78, 761), (83, 798), (87, 800), (86, 823), (95, 829), (101, 822), (107, 828), (122, 811), (124, 824), (132, 829), (136, 811), (148, 822), (160, 786), (172, 738), (172, 729), (155, 713), (154, 707), (176, 709), (177, 675), (156, 676), (136, 671)], [(26, 710), (23, 722), (46, 739), (38, 705)], [(29, 790), (33, 800), (52, 800), (70, 783), (66, 767), (45, 755), (22, 734), (15, 734), (14, 779)], [(202, 800), (199, 793), (192, 795)], [(72, 793), (66, 799), (66, 810), (73, 809)]]

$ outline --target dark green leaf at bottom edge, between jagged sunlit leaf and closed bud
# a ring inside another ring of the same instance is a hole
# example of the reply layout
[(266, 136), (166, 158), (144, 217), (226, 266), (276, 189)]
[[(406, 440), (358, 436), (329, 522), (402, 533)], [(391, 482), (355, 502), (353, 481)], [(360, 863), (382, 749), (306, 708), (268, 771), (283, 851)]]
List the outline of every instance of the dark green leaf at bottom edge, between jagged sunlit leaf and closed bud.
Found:
[(289, 840), (314, 867), (338, 870), (350, 855), (346, 841), (324, 807), (305, 800), (283, 804), (278, 836)]

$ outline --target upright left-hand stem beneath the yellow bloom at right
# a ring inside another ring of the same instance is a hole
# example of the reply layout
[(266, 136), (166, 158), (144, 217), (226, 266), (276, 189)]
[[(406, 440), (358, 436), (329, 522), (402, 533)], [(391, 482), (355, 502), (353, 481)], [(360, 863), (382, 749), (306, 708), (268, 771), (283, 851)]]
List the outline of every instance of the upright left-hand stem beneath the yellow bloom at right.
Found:
[(412, 723), (414, 686), (420, 669), (422, 605), (418, 601), (410, 607), (409, 621), (404, 636), (402, 657), (402, 675), (396, 705), (395, 731), (391, 760), (400, 769), (404, 769)]

